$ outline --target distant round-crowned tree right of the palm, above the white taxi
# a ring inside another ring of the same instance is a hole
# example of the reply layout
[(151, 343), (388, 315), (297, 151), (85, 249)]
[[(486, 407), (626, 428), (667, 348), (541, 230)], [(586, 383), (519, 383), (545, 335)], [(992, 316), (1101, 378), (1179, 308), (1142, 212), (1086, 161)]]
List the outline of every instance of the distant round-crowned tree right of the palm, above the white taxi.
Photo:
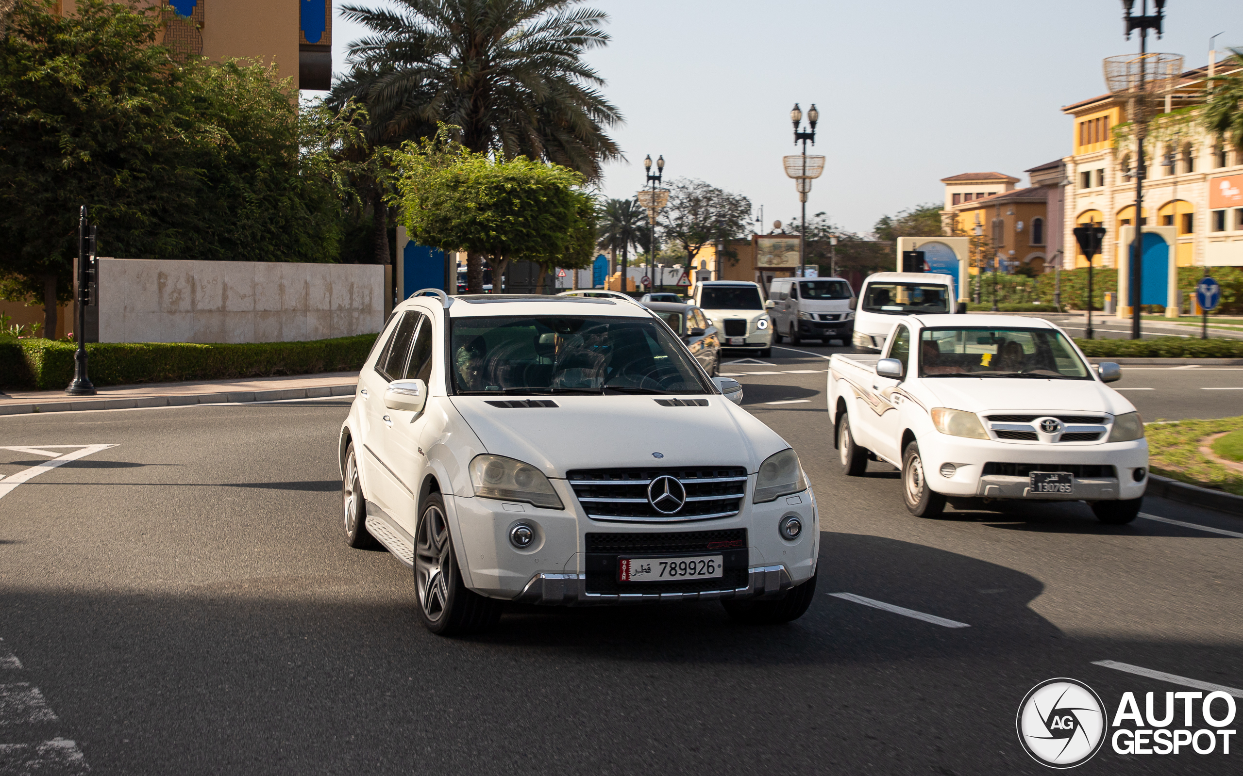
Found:
[(670, 184), (669, 205), (660, 211), (656, 226), (665, 241), (681, 247), (689, 267), (704, 246), (741, 237), (750, 221), (747, 197), (701, 180), (681, 179)]

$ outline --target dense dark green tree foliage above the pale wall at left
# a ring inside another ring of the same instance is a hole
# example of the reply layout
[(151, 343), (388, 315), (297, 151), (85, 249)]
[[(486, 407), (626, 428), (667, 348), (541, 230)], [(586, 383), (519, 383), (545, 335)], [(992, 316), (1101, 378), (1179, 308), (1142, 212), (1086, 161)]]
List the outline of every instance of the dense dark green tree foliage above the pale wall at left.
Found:
[(331, 187), (303, 175), (292, 84), (245, 62), (177, 61), (158, 6), (17, 2), (0, 37), (0, 296), (71, 298), (78, 207), (102, 255), (322, 261)]

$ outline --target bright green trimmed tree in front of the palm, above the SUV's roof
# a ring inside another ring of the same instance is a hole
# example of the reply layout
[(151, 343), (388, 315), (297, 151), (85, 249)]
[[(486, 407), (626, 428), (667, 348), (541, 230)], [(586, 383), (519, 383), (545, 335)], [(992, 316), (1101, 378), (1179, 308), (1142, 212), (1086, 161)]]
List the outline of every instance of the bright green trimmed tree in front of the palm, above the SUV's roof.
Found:
[[(406, 144), (394, 160), (403, 223), (423, 245), (486, 256), (497, 281), (513, 259), (547, 271), (589, 257), (594, 209), (574, 170), (474, 153), (451, 142), (447, 127)], [(482, 277), (470, 283), (480, 288)]]

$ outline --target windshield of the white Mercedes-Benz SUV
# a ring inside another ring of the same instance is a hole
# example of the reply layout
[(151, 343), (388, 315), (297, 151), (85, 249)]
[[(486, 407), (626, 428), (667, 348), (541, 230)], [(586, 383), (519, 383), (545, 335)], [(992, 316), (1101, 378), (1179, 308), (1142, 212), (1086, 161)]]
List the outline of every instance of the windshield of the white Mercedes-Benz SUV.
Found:
[(650, 318), (454, 318), (450, 348), (459, 394), (709, 392)]

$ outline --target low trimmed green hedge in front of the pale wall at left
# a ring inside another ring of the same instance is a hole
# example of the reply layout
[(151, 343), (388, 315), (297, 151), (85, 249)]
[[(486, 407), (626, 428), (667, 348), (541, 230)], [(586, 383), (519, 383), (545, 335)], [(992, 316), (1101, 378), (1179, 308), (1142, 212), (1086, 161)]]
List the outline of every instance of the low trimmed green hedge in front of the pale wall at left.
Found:
[[(94, 385), (179, 382), (311, 375), (360, 369), (375, 334), (306, 343), (92, 343), (88, 374)], [(73, 379), (72, 343), (22, 339), (0, 343), (0, 386), (53, 390)]]

